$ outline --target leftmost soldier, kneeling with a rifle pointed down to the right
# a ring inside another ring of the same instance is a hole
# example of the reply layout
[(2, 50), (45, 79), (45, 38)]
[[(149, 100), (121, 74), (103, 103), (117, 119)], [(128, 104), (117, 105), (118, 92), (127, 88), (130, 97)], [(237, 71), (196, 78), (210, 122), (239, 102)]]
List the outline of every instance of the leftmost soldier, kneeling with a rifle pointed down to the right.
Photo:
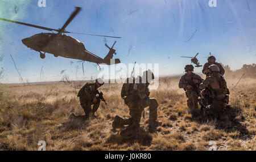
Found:
[[(96, 95), (99, 93), (98, 88), (103, 84), (104, 81), (101, 78), (98, 78), (95, 83), (86, 83), (77, 94), (82, 109), (84, 109), (86, 119), (88, 119), (91, 114), (95, 117), (94, 113), (97, 111), (98, 106), (100, 106), (101, 101), (101, 99)], [(93, 108), (91, 108), (91, 105), (93, 105)]]

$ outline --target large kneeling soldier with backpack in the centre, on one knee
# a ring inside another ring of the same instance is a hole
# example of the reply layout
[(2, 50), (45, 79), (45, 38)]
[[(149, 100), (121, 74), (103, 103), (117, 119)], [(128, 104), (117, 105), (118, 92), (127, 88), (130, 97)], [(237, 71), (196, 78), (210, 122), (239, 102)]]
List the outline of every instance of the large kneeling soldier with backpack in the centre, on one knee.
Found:
[[(155, 127), (162, 123), (157, 121), (158, 101), (155, 98), (150, 98), (148, 86), (151, 80), (154, 79), (154, 74), (151, 70), (144, 71), (143, 76), (136, 79), (127, 78), (126, 83), (123, 84), (121, 97), (125, 100), (125, 104), (129, 107), (130, 118), (122, 118), (115, 116), (112, 123), (113, 129), (123, 127), (123, 125), (130, 125), (135, 128), (139, 127), (142, 112), (144, 108), (149, 106), (150, 116), (148, 128), (152, 132)], [(130, 82), (129, 82), (130, 81)]]

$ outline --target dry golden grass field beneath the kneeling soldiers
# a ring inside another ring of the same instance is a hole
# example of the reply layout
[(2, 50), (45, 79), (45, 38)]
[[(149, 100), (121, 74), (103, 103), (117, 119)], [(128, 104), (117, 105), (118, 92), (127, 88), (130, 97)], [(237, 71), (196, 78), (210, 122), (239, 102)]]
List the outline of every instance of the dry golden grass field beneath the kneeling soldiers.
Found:
[[(239, 79), (239, 78), (238, 78)], [(256, 150), (255, 80), (226, 79), (232, 120), (192, 118), (179, 77), (160, 78), (159, 88), (150, 96), (158, 100), (158, 119), (163, 122), (155, 133), (148, 132), (148, 108), (137, 132), (112, 130), (115, 115), (129, 117), (120, 97), (121, 84), (104, 84), (108, 105), (101, 102), (96, 118), (69, 121), (69, 114), (84, 115), (76, 97), (84, 83), (53, 82), (6, 84), (0, 101), (0, 150), (38, 150), (39, 140), (46, 150), (209, 150), (210, 140), (217, 150)]]

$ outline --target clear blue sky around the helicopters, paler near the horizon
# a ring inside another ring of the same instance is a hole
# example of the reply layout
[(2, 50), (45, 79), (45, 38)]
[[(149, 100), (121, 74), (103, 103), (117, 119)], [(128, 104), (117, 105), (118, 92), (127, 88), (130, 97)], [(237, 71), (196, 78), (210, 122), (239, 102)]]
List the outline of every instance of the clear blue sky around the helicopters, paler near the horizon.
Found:
[[(195, 56), (197, 52), (199, 57), (207, 57), (211, 52), (217, 62), (229, 65), (233, 70), (240, 69), (245, 63), (255, 63), (256, 1), (217, 0), (217, 7), (209, 7), (208, 2), (46, 0), (46, 7), (38, 7), (38, 0), (0, 0), (0, 17), (61, 28), (75, 7), (82, 7), (67, 31), (121, 36), (122, 39), (106, 38), (109, 45), (117, 40), (114, 58), (126, 64), (135, 61), (159, 63), (159, 75), (182, 74), (184, 66), (191, 61), (180, 56)], [(15, 5), (18, 6), (16, 13)], [(195, 31), (192, 39), (187, 41)], [(48, 31), (0, 22), (0, 55), (5, 56), (1, 64), (5, 69), (2, 82), (21, 83), (10, 54), (25, 82), (60, 80), (61, 70), (65, 70), (71, 80), (88, 80), (100, 73), (95, 63), (85, 62), (83, 75), (78, 60), (56, 58), (48, 53), (41, 59), (38, 52), (28, 49), (20, 41), (40, 32)], [(85, 48), (97, 56), (104, 58), (108, 53), (104, 37), (69, 36), (84, 42)], [(199, 62), (204, 64), (207, 58), (199, 58)], [(201, 70), (201, 67), (196, 68), (195, 72)]]

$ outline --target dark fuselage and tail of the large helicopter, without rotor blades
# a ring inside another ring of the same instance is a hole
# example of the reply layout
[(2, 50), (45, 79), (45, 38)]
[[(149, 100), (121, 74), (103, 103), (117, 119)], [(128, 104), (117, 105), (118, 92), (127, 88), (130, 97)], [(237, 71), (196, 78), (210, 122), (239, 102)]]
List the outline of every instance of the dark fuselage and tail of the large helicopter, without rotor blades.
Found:
[(110, 62), (110, 59), (113, 57), (113, 53), (115, 53), (114, 49), (109, 51), (106, 59), (102, 59), (86, 50), (82, 42), (67, 35), (60, 35), (57, 33), (39, 33), (23, 39), (22, 42), (28, 48), (40, 52), (41, 58), (45, 57), (44, 54), (42, 57), (42, 52), (44, 52), (51, 53), (55, 57), (61, 56), (65, 58), (80, 59), (99, 64), (106, 63), (107, 65), (111, 65), (112, 63), (120, 63), (119, 59), (114, 59), (114, 62)]

